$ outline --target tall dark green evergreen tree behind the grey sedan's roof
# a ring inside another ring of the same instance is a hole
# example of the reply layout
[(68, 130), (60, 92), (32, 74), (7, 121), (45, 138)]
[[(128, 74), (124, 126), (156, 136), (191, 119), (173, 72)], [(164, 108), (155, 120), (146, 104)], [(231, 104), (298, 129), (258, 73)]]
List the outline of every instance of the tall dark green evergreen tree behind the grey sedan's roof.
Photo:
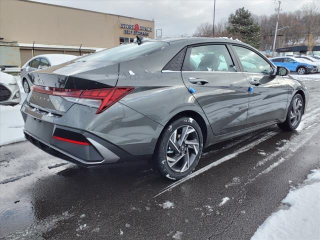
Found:
[(228, 23), (229, 26), (226, 27), (228, 33), (255, 48), (259, 48), (261, 30), (251, 17), (251, 12), (245, 10), (244, 7), (238, 8), (234, 14), (229, 15)]

